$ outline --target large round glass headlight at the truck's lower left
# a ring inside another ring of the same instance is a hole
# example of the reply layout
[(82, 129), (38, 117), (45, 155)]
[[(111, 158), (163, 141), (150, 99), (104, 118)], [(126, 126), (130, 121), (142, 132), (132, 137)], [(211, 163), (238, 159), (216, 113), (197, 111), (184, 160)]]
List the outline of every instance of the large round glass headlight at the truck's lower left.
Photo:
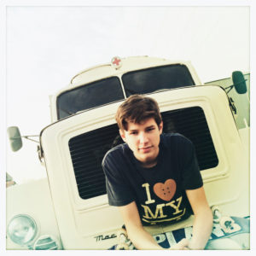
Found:
[(38, 227), (32, 217), (20, 214), (10, 220), (7, 232), (12, 241), (24, 246), (37, 236)]

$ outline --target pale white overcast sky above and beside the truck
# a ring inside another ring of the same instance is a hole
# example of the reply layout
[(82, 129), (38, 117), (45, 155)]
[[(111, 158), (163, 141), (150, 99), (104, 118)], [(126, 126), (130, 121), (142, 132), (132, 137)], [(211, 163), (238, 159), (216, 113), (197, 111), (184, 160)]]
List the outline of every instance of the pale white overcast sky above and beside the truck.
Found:
[[(202, 82), (250, 72), (250, 9), (226, 7), (9, 6), (6, 11), (6, 125), (38, 135), (50, 124), (49, 95), (76, 73), (113, 56), (191, 61)], [(6, 145), (17, 183), (46, 177), (37, 143)]]

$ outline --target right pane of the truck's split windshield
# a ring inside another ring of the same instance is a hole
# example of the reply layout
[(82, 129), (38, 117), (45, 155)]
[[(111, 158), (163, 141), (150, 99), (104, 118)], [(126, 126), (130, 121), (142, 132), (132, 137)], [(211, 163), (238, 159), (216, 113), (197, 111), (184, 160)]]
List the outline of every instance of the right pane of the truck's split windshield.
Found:
[(125, 73), (122, 80), (127, 97), (132, 94), (195, 85), (188, 67), (180, 64), (132, 71)]

